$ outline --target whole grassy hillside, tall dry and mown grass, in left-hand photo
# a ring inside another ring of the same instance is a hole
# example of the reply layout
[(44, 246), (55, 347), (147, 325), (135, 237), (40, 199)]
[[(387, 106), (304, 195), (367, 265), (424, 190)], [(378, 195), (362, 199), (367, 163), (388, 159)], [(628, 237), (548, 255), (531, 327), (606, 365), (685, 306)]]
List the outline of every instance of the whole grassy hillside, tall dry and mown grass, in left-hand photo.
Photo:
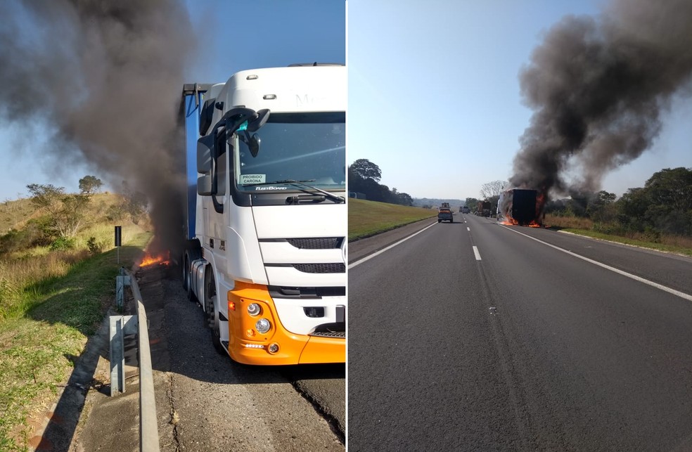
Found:
[(50, 408), (114, 303), (118, 269), (132, 266), (151, 233), (108, 193), (91, 198), (83, 227), (62, 247), (30, 200), (4, 202), (0, 221), (0, 451), (25, 451), (27, 418)]

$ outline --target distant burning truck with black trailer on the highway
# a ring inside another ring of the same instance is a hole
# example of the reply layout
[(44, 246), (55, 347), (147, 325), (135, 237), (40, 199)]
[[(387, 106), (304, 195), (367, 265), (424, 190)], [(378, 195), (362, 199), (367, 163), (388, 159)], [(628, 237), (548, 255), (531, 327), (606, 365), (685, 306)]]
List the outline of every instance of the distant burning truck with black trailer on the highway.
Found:
[(500, 194), (497, 221), (507, 225), (543, 226), (545, 195), (537, 190), (512, 188)]

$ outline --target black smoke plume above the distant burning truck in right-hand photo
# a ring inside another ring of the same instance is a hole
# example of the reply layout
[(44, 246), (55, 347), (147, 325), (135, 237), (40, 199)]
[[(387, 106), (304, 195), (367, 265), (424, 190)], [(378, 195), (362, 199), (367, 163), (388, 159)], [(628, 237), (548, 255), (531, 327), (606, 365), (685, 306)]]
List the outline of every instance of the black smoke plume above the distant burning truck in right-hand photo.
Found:
[(520, 72), (534, 114), (511, 185), (598, 191), (610, 169), (651, 146), (673, 96), (690, 94), (691, 74), (690, 0), (617, 0), (596, 18), (563, 18)]

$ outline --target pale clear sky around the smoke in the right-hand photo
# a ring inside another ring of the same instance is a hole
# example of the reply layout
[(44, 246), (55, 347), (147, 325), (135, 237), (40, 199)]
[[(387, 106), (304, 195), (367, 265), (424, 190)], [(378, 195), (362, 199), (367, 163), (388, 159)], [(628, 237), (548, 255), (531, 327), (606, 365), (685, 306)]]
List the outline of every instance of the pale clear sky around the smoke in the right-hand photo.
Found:
[[(603, 1), (351, 0), (349, 164), (366, 158), (380, 183), (414, 198), (480, 197), (508, 180), (532, 110), (518, 73), (564, 15)], [(622, 195), (666, 167), (692, 167), (692, 102), (677, 100), (653, 148), (603, 180)]]

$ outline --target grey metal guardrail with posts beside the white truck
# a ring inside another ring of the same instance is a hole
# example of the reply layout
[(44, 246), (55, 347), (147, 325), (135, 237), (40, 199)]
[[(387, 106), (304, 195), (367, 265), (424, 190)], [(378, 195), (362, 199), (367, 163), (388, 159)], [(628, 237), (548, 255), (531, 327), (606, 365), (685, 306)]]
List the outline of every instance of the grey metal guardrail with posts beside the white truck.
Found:
[(129, 271), (120, 269), (115, 290), (119, 308), (124, 305), (125, 285), (132, 289), (137, 315), (110, 316), (110, 395), (125, 391), (124, 337), (136, 334), (139, 350), (139, 448), (143, 452), (158, 452), (160, 447), (146, 311), (135, 278)]

